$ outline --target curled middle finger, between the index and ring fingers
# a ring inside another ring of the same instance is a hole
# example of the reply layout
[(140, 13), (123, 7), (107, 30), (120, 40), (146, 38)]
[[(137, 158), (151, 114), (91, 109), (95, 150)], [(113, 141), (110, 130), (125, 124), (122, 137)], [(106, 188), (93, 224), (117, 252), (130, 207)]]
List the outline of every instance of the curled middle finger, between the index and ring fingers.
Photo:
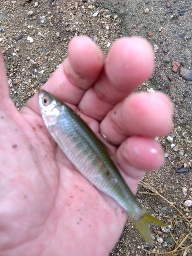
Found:
[(133, 92), (154, 70), (154, 53), (139, 37), (118, 39), (112, 46), (102, 75), (79, 103), (86, 115), (101, 120), (113, 106)]

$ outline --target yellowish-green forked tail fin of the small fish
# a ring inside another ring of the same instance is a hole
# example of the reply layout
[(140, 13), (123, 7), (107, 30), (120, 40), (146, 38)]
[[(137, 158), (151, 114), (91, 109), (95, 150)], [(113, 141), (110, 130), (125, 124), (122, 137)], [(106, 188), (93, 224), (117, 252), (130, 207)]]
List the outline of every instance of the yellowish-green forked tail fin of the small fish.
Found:
[(152, 236), (151, 236), (151, 231), (150, 228), (148, 227), (148, 223), (153, 223), (157, 226), (166, 226), (165, 223), (162, 221), (156, 219), (153, 217), (149, 212), (146, 212), (143, 217), (141, 217), (139, 220), (132, 220), (134, 225), (137, 227), (139, 230), (139, 233), (141, 236), (144, 238), (144, 240), (149, 244), (152, 245)]

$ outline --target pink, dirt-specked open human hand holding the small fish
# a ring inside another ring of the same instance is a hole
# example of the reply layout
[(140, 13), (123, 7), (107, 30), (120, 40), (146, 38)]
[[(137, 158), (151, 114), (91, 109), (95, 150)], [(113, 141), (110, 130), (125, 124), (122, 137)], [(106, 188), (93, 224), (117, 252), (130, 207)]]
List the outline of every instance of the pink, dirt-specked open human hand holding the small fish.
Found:
[[(122, 50), (123, 49), (123, 50)], [(162, 93), (132, 93), (154, 69), (142, 38), (117, 40), (106, 59), (88, 37), (75, 37), (69, 57), (42, 87), (118, 146), (120, 172), (133, 193), (147, 170), (164, 161), (154, 140), (172, 130), (173, 108)], [(19, 112), (9, 96), (0, 55), (0, 256), (108, 255), (127, 215), (84, 179), (46, 130), (37, 95)]]

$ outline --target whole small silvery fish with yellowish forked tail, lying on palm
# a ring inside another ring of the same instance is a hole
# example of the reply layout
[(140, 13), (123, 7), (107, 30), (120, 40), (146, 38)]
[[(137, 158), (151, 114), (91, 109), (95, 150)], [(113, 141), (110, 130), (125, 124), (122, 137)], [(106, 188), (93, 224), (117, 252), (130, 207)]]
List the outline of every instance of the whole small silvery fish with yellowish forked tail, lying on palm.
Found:
[(103, 143), (69, 106), (40, 89), (38, 103), (45, 125), (63, 153), (96, 188), (115, 199), (152, 245), (147, 223), (166, 226), (151, 216), (132, 194)]

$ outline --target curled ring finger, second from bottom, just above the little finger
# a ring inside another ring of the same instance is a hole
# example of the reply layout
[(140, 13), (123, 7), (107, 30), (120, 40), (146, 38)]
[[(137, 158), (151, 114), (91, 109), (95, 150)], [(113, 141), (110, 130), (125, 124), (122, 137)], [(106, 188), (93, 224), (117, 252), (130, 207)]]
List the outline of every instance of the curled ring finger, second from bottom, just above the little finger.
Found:
[(100, 123), (100, 132), (114, 144), (132, 135), (161, 137), (172, 129), (173, 104), (160, 92), (130, 96), (117, 104)]

